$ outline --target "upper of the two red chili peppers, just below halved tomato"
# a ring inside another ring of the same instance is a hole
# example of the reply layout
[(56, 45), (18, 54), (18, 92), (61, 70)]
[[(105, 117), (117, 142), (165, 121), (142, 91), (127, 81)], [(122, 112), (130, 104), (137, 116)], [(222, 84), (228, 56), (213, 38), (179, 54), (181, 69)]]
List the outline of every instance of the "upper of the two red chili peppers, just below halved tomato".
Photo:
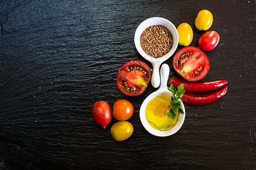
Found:
[(214, 82), (190, 82), (177, 77), (174, 77), (170, 84), (173, 84), (175, 88), (178, 88), (179, 84), (184, 84), (184, 90), (189, 92), (207, 92), (217, 90), (228, 83), (226, 80), (218, 80)]

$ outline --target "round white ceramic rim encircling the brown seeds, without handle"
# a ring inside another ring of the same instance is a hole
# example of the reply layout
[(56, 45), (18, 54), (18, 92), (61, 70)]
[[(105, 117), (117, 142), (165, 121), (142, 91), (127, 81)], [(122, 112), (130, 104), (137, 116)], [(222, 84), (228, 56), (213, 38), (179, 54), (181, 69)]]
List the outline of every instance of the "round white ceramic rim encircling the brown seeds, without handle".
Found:
[[(154, 57), (150, 57), (148, 54), (146, 54), (144, 52), (144, 50), (142, 50), (141, 45), (140, 45), (140, 36), (141, 33), (149, 26), (151, 25), (163, 25), (165, 26), (167, 29), (169, 29), (169, 31), (171, 32), (171, 35), (173, 36), (173, 46), (170, 49), (170, 52), (165, 54), (165, 56), (160, 57), (160, 58), (154, 58)], [(175, 50), (178, 47), (178, 42), (179, 42), (179, 35), (178, 35), (178, 31), (177, 28), (175, 27), (175, 25), (173, 23), (171, 23), (169, 20), (165, 19), (165, 18), (160, 18), (160, 17), (153, 17), (153, 18), (149, 18), (144, 20), (136, 29), (135, 32), (135, 46), (137, 51), (140, 53), (140, 55), (142, 57), (144, 57), (146, 60), (148, 60), (149, 62), (153, 62), (153, 63), (162, 63), (163, 61), (165, 61), (166, 59), (170, 58), (173, 53), (175, 52)]]

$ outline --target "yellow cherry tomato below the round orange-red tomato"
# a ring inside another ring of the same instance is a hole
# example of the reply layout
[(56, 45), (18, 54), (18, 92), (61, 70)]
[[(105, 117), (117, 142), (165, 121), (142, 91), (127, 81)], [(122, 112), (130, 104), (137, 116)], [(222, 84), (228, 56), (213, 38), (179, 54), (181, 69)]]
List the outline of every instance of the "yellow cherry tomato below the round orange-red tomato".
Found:
[(131, 137), (133, 133), (133, 126), (130, 122), (119, 121), (111, 127), (110, 133), (116, 141), (124, 141)]

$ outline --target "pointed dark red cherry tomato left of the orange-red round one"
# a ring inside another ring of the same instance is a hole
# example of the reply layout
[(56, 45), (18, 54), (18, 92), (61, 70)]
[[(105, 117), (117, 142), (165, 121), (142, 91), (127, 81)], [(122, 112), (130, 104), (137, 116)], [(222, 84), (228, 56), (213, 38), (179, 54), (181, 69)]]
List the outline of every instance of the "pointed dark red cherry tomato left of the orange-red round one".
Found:
[(98, 101), (93, 105), (93, 120), (104, 129), (112, 119), (112, 109), (106, 101)]

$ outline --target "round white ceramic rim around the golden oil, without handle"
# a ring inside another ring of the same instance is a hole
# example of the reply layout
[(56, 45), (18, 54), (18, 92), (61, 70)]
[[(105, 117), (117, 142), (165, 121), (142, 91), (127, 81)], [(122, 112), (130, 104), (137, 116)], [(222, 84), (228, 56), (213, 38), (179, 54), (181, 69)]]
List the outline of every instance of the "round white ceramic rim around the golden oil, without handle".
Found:
[(143, 103), (141, 104), (140, 107), (140, 121), (141, 124), (144, 126), (144, 128), (152, 135), (158, 136), (158, 137), (167, 137), (170, 135), (175, 134), (179, 129), (181, 129), (184, 120), (185, 120), (185, 116), (186, 116), (186, 111), (184, 108), (184, 104), (181, 104), (181, 108), (184, 111), (184, 114), (179, 114), (179, 118), (177, 121), (177, 124), (175, 124), (173, 126), (173, 128), (169, 129), (169, 130), (165, 130), (165, 131), (161, 131), (161, 130), (157, 130), (154, 129), (149, 122), (146, 120), (146, 105), (148, 105), (149, 101), (154, 99), (154, 97), (157, 97), (159, 95), (166, 95), (166, 96), (173, 96), (173, 94), (170, 91), (164, 91), (164, 90), (157, 90), (155, 92), (153, 92), (152, 94), (150, 94), (148, 97), (146, 97), (146, 99), (143, 101)]

